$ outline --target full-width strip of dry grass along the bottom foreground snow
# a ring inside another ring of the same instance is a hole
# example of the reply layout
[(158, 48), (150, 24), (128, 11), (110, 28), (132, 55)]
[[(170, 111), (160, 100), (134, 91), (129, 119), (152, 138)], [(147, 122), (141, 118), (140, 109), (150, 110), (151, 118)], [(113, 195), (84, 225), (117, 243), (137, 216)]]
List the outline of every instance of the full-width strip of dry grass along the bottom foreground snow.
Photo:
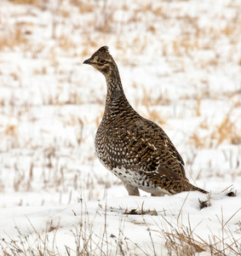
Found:
[[(185, 201), (184, 201), (185, 203)], [(95, 233), (95, 218), (93, 221), (89, 221), (89, 213), (87, 207), (81, 201), (80, 203), (80, 216), (79, 224), (76, 225), (72, 230), (72, 236), (69, 238), (69, 241), (75, 242), (75, 247), (70, 247), (66, 243), (62, 244), (61, 247), (66, 249), (66, 255), (100, 255), (104, 254), (106, 256), (119, 253), (120, 255), (132, 255), (132, 246), (135, 246), (135, 252), (139, 250), (143, 255), (150, 255), (150, 251), (146, 252), (141, 249), (141, 245), (131, 241), (123, 233), (123, 217), (125, 214), (135, 214), (135, 215), (152, 215), (152, 218), (158, 218), (158, 213), (153, 210), (146, 210), (141, 206), (141, 209), (132, 209), (128, 211), (127, 209), (123, 212), (119, 219), (119, 229), (118, 236), (109, 234), (107, 232), (108, 219), (107, 219), (107, 206), (104, 207), (99, 205), (95, 215), (100, 214), (100, 210), (104, 208), (104, 218), (102, 222), (102, 229), (99, 234)], [(182, 208), (182, 207), (181, 207)], [(239, 209), (240, 210), (240, 209)], [(152, 232), (159, 234), (162, 239), (164, 239), (164, 247), (167, 248), (169, 255), (197, 255), (197, 253), (210, 253), (210, 255), (239, 255), (241, 253), (241, 247), (239, 240), (237, 240), (228, 229), (227, 224), (230, 220), (239, 212), (234, 212), (227, 221), (223, 219), (223, 212), (221, 211), (221, 217), (216, 215), (217, 220), (221, 225), (221, 234), (217, 236), (212, 234), (209, 236), (209, 241), (204, 240), (204, 238), (195, 234), (197, 226), (192, 227), (190, 220), (188, 218), (187, 225), (182, 224), (181, 222), (181, 211), (176, 219), (176, 224), (174, 222), (170, 223), (165, 215), (161, 215), (163, 222), (156, 222), (158, 230), (152, 230), (152, 226), (146, 222), (146, 218), (142, 218), (142, 221), (135, 221), (136, 225), (146, 226), (146, 232), (148, 233), (150, 244), (149, 250), (152, 250), (152, 255), (159, 255), (157, 247), (160, 244), (153, 241)], [(77, 216), (77, 213), (73, 212), (72, 218)], [(165, 212), (164, 212), (165, 213)], [(102, 215), (102, 214), (100, 214)], [(14, 240), (13, 238), (6, 236), (6, 238), (1, 237), (0, 247), (3, 253), (3, 256), (9, 255), (45, 255), (45, 256), (54, 256), (62, 255), (60, 253), (60, 245), (57, 243), (57, 235), (60, 230), (60, 220), (58, 223), (54, 224), (54, 221), (49, 219), (46, 223), (46, 227), (43, 231), (39, 232), (35, 229), (32, 222), (28, 219), (29, 224), (31, 225), (32, 233), (31, 235), (23, 234), (18, 227), (16, 230), (18, 232), (18, 238)], [(237, 223), (236, 234), (239, 234), (241, 230), (240, 222)], [(50, 236), (51, 235), (51, 236)]]

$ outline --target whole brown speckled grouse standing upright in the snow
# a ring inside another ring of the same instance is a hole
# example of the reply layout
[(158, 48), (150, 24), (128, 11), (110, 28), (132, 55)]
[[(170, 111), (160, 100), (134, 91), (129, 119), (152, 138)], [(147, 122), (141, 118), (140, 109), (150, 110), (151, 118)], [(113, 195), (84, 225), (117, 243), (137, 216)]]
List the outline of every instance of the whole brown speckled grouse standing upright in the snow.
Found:
[(139, 196), (139, 189), (152, 196), (183, 191), (207, 194), (189, 183), (181, 154), (164, 130), (132, 108), (109, 48), (100, 47), (83, 64), (95, 67), (106, 78), (106, 106), (95, 134), (97, 157), (123, 181), (129, 195)]

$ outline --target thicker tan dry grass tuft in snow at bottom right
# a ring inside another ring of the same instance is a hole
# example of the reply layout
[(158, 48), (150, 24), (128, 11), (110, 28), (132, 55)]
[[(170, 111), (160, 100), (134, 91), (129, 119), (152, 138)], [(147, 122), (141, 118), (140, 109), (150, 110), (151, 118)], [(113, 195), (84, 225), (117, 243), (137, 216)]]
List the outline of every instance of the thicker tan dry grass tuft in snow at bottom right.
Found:
[[(200, 201), (200, 208), (202, 205), (209, 207), (211, 204), (211, 197), (208, 201)], [(179, 216), (176, 219), (176, 224), (170, 223), (165, 217), (164, 218), (164, 230), (162, 236), (165, 240), (165, 247), (169, 251), (169, 255), (197, 255), (197, 253), (207, 252), (210, 255), (239, 255), (241, 253), (240, 239), (234, 238), (231, 230), (227, 227), (228, 222), (241, 210), (238, 209), (234, 212), (230, 218), (225, 222), (223, 219), (223, 212), (221, 210), (221, 218), (216, 215), (219, 223), (221, 224), (221, 235), (216, 236), (209, 230), (212, 236), (209, 236), (209, 241), (195, 234), (195, 229), (198, 227), (192, 227), (188, 218), (188, 224), (182, 224)]]

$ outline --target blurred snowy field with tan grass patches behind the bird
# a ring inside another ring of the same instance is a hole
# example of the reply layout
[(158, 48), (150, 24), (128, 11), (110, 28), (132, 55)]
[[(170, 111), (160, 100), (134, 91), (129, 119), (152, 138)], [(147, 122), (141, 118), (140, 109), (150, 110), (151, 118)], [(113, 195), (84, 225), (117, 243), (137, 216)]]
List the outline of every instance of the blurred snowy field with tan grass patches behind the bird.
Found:
[(0, 207), (127, 195), (95, 155), (106, 81), (82, 63), (103, 45), (190, 182), (240, 188), (239, 0), (2, 0)]

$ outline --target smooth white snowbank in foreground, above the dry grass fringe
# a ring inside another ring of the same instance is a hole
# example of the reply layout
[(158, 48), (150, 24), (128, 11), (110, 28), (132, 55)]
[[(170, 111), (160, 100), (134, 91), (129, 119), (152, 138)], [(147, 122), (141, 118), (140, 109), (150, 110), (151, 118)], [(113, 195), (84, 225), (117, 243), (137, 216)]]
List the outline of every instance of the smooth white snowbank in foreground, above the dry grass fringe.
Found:
[[(82, 232), (88, 233), (85, 236), (93, 232), (92, 237), (98, 245), (92, 248), (96, 255), (99, 255), (101, 250), (106, 252), (106, 244), (105, 248), (100, 247), (101, 236), (105, 236), (105, 242), (108, 241), (109, 251), (112, 250), (112, 253), (115, 253), (117, 250), (120, 253), (116, 244), (120, 232), (129, 245), (128, 247), (123, 245), (124, 253), (141, 255), (142, 249), (146, 254), (151, 255), (152, 243), (155, 245), (157, 255), (166, 253), (160, 238), (163, 230), (171, 229), (170, 226), (167, 228), (169, 223), (173, 226), (188, 226), (194, 230), (193, 236), (202, 237), (206, 241), (213, 236), (231, 239), (227, 230), (229, 232), (233, 230), (232, 238), (240, 240), (240, 230), (238, 231), (241, 211), (240, 195), (233, 198), (227, 197), (224, 193), (212, 195), (211, 207), (201, 210), (198, 200), (205, 201), (206, 196), (199, 192), (167, 195), (161, 198), (123, 196), (106, 201), (82, 201), (65, 207), (3, 208), (0, 210), (1, 237), (7, 240), (9, 234), (17, 237), (20, 234), (33, 236), (32, 234), (35, 233), (44, 236), (47, 229), (49, 230), (48, 240), (51, 241), (55, 236), (59, 252), (65, 252), (66, 246), (76, 249), (76, 229), (81, 227)], [(125, 214), (127, 210), (141, 211), (142, 208), (155, 210), (157, 216)], [(151, 230), (151, 236), (148, 230)], [(221, 230), (225, 230), (224, 235)], [(135, 247), (135, 245), (138, 246)]]

